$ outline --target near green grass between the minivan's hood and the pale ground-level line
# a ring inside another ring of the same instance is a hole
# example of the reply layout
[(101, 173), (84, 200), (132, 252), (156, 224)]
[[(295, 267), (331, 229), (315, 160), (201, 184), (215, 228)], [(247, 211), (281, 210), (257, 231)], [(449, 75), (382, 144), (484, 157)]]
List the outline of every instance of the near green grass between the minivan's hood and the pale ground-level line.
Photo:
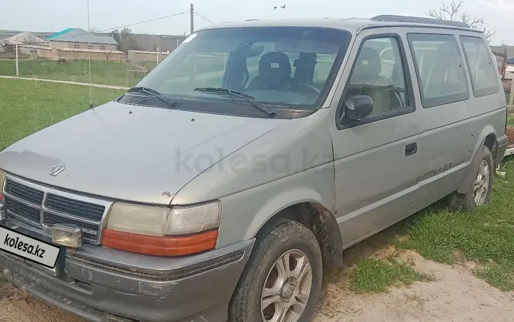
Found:
[[(0, 93), (0, 151), (89, 106), (89, 88), (85, 86), (0, 79)], [(93, 104), (98, 106), (122, 93), (93, 88)]]

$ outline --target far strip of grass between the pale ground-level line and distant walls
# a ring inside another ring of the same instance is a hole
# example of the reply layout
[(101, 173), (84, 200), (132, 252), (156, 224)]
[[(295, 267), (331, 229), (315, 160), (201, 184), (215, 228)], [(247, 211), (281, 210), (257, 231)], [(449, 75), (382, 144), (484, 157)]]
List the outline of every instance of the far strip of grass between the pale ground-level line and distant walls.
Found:
[[(134, 66), (124, 62), (91, 61), (91, 82), (93, 84), (134, 86), (141, 78), (141, 73), (129, 71)], [(58, 65), (55, 60), (20, 60), (19, 71), (22, 77), (57, 79), (69, 82), (89, 82), (87, 60), (70, 60), (68, 64)], [(0, 60), (0, 75), (15, 76), (14, 60)]]

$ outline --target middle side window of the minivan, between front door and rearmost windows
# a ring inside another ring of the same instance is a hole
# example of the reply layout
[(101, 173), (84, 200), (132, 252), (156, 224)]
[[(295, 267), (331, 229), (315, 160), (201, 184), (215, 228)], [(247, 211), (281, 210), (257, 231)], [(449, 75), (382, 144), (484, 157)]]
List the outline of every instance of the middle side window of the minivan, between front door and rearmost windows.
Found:
[(424, 108), (469, 99), (467, 73), (452, 35), (408, 34)]

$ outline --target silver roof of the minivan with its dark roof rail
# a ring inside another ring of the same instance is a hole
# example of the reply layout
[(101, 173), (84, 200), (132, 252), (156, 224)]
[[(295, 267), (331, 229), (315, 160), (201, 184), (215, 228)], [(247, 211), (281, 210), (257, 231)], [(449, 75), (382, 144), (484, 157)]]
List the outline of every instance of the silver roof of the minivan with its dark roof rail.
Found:
[(375, 16), (373, 18), (301, 18), (301, 19), (275, 19), (219, 23), (204, 29), (241, 28), (241, 27), (325, 27), (342, 29), (356, 34), (361, 29), (373, 27), (434, 27), (443, 29), (461, 29), (470, 32), (480, 32), (471, 29), (469, 25), (456, 21), (441, 21), (432, 18), (419, 18), (409, 16)]

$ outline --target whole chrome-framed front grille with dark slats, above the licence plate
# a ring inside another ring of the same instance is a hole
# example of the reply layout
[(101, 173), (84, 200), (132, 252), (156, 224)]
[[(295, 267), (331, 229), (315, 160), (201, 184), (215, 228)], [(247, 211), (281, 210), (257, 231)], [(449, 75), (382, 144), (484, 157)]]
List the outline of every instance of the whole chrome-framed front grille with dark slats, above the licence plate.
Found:
[(108, 201), (23, 184), (9, 177), (5, 182), (4, 199), (8, 218), (20, 219), (45, 230), (56, 224), (79, 227), (82, 238), (88, 242), (85, 245), (99, 244), (101, 219), (110, 205)]

